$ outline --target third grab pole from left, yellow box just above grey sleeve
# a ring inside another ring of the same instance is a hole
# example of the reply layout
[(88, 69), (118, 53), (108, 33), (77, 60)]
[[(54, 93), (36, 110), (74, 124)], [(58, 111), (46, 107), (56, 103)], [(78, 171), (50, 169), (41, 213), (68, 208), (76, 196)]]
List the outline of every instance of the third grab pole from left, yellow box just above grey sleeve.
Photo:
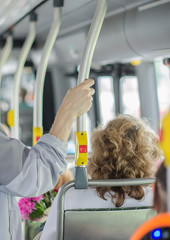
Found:
[(61, 7), (63, 7), (64, 5), (64, 0), (54, 0), (53, 5), (54, 5), (54, 20), (43, 49), (42, 58), (38, 67), (36, 77), (34, 114), (33, 114), (33, 145), (37, 143), (37, 141), (43, 134), (42, 116), (43, 116), (44, 80), (47, 70), (48, 59), (60, 29), (62, 14)]

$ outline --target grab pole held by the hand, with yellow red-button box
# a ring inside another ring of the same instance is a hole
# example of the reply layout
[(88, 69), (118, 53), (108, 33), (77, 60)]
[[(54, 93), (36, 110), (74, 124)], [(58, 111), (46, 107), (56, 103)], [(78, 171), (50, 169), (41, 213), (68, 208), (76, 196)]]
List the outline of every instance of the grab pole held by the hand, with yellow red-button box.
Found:
[[(97, 39), (104, 21), (107, 11), (108, 0), (99, 0), (97, 8), (89, 29), (86, 40), (86, 45), (83, 51), (83, 56), (80, 63), (78, 75), (78, 84), (82, 83), (89, 77), (91, 61)], [(85, 115), (77, 118), (77, 133), (76, 133), (76, 155), (75, 155), (75, 188), (84, 189), (88, 187), (87, 175), (87, 133), (86, 133), (86, 118)]]

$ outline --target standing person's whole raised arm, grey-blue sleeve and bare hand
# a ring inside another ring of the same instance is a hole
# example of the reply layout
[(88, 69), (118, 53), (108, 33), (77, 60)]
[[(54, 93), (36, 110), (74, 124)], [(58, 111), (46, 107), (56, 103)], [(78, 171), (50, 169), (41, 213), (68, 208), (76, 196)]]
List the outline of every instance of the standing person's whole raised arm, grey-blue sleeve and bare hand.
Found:
[[(56, 115), (50, 134), (31, 149), (0, 132), (1, 191), (19, 196), (37, 196), (52, 189), (66, 168), (65, 156), (72, 123), (92, 105), (94, 80), (69, 90)], [(1, 174), (2, 173), (2, 174)]]

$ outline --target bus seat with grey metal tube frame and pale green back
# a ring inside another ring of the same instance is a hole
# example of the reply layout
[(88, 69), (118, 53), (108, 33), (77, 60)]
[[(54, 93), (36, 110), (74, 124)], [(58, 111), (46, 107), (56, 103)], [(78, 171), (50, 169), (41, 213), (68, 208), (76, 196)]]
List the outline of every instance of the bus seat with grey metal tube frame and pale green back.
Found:
[[(89, 180), (89, 187), (151, 184), (154, 179)], [(149, 182), (150, 181), (150, 182)], [(64, 198), (74, 181), (58, 193), (57, 240), (128, 240), (135, 230), (156, 215), (152, 207), (64, 210)], [(81, 201), (81, 199), (80, 199)]]

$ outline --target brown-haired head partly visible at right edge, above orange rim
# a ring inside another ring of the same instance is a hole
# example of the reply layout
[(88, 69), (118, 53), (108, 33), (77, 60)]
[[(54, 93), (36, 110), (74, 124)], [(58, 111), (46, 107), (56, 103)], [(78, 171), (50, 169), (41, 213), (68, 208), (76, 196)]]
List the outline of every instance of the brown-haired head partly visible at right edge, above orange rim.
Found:
[(155, 191), (154, 191), (154, 208), (158, 213), (167, 211), (167, 184), (166, 184), (167, 170), (164, 162), (159, 167), (155, 177)]

